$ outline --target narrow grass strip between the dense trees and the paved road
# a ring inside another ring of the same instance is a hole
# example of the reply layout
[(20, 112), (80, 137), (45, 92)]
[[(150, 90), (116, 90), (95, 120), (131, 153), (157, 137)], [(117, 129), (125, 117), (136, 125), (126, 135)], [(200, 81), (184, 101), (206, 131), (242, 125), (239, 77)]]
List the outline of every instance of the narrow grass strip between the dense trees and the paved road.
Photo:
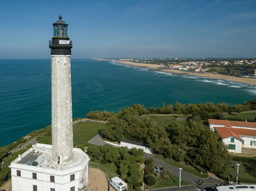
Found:
[(189, 165), (186, 165), (185, 162), (177, 163), (177, 162), (174, 162), (173, 160), (170, 160), (169, 158), (164, 158), (163, 156), (160, 156), (160, 155), (155, 155), (154, 157), (158, 158), (159, 160), (163, 160), (163, 161), (165, 161), (165, 163), (169, 163), (170, 165), (173, 165), (174, 167), (182, 168), (186, 172), (190, 172), (191, 174), (195, 174), (199, 177), (202, 177), (202, 178), (207, 178), (208, 177), (208, 174), (201, 174), (200, 172), (198, 172), (193, 167), (191, 167)]

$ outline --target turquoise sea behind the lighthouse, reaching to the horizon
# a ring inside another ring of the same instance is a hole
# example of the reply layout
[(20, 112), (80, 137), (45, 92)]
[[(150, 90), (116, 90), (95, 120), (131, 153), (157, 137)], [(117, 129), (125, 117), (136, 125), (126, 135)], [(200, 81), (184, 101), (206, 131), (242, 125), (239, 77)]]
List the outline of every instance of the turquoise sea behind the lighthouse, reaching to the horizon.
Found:
[[(0, 147), (51, 124), (51, 60), (0, 60)], [(148, 72), (94, 60), (71, 60), (73, 118), (90, 110), (118, 112), (133, 103), (165, 104), (255, 99), (253, 85)]]

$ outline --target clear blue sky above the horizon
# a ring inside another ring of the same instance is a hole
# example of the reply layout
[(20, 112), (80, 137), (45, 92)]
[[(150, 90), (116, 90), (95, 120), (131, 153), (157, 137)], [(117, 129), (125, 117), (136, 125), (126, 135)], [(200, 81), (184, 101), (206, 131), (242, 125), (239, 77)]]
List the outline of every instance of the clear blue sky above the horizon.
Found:
[(256, 58), (256, 0), (0, 0), (0, 59), (51, 58), (61, 14), (71, 58)]

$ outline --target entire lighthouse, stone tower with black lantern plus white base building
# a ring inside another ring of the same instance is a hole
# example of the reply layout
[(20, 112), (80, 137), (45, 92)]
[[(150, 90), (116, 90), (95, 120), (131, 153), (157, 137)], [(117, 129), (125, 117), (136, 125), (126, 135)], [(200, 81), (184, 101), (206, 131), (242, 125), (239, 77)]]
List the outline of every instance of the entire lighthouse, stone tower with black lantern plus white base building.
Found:
[(73, 45), (68, 38), (68, 24), (61, 15), (52, 25), (52, 145), (37, 143), (10, 163), (13, 191), (78, 191), (89, 185), (89, 156), (73, 148)]

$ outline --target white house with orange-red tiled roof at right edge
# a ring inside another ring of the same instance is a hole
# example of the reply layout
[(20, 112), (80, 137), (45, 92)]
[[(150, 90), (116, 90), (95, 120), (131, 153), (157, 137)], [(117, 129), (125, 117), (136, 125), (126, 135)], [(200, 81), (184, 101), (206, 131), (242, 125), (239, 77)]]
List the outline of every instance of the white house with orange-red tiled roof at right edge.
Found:
[(208, 119), (209, 128), (220, 135), (228, 151), (241, 153), (242, 148), (256, 149), (256, 123)]

